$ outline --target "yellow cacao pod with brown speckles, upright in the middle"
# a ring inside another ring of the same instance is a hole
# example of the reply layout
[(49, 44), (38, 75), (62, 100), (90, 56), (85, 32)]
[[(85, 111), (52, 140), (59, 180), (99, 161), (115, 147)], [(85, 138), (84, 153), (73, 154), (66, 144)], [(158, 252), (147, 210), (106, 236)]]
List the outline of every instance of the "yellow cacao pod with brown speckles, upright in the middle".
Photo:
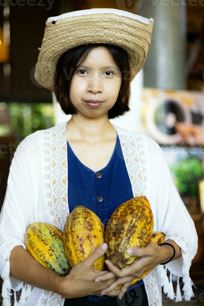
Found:
[[(89, 257), (104, 242), (104, 226), (100, 218), (85, 206), (76, 206), (68, 215), (63, 230), (63, 240), (71, 267)], [(93, 267), (102, 271), (105, 255)]]

